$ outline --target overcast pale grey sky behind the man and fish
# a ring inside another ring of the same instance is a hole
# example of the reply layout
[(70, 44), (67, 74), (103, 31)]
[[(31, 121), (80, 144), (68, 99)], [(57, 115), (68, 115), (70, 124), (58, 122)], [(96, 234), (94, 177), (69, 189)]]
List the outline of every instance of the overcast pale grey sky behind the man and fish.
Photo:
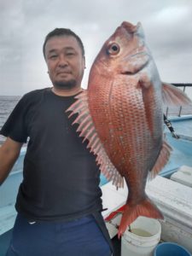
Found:
[(71, 28), (92, 61), (122, 21), (141, 21), (160, 78), (192, 83), (192, 0), (0, 0), (0, 95), (51, 86), (42, 54), (48, 32)]

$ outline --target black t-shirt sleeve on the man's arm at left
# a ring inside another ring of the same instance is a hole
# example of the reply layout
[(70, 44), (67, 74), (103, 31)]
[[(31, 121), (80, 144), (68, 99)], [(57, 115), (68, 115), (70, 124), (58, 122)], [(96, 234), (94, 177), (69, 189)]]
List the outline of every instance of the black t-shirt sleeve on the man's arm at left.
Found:
[(0, 131), (1, 135), (10, 137), (18, 143), (26, 143), (27, 140), (25, 102), (25, 96), (23, 96)]

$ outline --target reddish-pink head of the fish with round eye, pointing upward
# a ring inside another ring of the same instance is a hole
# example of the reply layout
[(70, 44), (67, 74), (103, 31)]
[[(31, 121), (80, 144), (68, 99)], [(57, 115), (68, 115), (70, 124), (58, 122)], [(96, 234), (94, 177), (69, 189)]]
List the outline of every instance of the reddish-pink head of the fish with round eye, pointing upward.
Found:
[[(150, 59), (143, 27), (124, 21), (103, 44), (90, 68), (90, 79), (138, 73)], [(89, 86), (89, 85), (88, 85)], [(88, 87), (89, 88), (89, 87)]]

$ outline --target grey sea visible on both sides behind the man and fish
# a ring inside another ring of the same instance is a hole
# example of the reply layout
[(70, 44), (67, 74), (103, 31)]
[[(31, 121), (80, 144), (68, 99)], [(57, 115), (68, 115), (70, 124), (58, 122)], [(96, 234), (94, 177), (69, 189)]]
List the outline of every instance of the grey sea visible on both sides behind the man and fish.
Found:
[[(17, 102), (19, 102), (21, 96), (0, 96), (0, 129), (2, 128), (5, 121), (8, 119), (9, 114), (15, 108)], [(181, 113), (180, 113), (181, 112)], [(178, 116), (179, 113), (181, 115), (192, 114), (192, 106), (191, 107), (180, 107), (177, 108), (169, 108), (164, 109), (164, 113), (168, 113), (168, 116)], [(5, 137), (0, 135), (0, 145), (4, 142)]]

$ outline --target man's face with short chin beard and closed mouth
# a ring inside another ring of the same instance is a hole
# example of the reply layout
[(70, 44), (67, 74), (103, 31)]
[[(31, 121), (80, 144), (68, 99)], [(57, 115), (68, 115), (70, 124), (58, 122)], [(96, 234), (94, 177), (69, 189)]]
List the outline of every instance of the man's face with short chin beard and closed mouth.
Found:
[(84, 56), (73, 36), (55, 36), (45, 45), (49, 78), (59, 89), (80, 87), (84, 75)]

